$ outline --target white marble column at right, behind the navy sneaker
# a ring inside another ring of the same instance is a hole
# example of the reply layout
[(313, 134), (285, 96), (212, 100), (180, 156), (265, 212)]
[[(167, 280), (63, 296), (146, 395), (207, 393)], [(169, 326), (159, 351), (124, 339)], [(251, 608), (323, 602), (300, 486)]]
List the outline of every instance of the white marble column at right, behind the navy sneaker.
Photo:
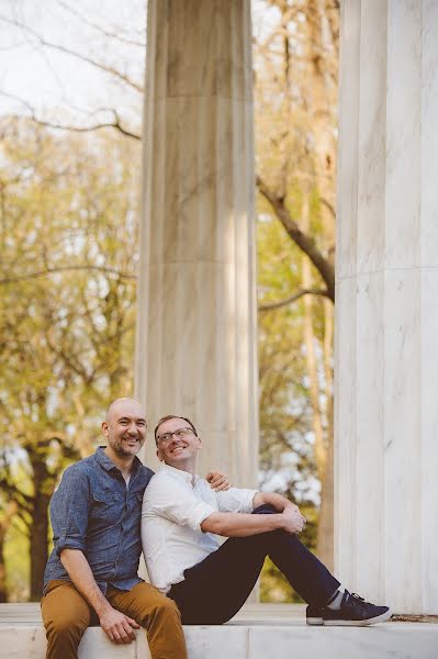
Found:
[(345, 0), (336, 569), (438, 614), (438, 2)]

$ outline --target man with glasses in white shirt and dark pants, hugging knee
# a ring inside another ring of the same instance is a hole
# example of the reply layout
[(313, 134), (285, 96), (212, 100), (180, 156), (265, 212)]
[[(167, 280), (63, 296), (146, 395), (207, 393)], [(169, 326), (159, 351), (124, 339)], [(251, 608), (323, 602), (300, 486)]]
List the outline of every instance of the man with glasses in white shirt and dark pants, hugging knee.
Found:
[[(243, 606), (266, 556), (308, 603), (310, 625), (370, 625), (391, 616), (342, 591), (302, 545), (305, 517), (284, 496), (231, 488), (211, 491), (196, 476), (201, 448), (193, 423), (167, 415), (155, 428), (162, 466), (145, 491), (143, 551), (151, 582), (173, 600), (183, 624), (222, 624)], [(215, 535), (228, 537), (218, 546)]]

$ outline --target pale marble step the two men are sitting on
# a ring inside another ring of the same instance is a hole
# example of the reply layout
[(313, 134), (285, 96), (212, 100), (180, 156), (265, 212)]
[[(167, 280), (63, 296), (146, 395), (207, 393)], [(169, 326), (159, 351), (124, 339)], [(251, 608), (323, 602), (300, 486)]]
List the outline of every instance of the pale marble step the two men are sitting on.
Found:
[[(277, 612), (277, 619), (274, 614)], [(302, 607), (249, 607), (223, 626), (184, 628), (190, 659), (438, 659), (438, 625), (385, 623), (373, 627), (307, 627)], [(37, 605), (0, 605), (0, 658), (43, 659), (45, 634)], [(150, 659), (146, 635), (116, 646), (89, 628), (79, 659)]]

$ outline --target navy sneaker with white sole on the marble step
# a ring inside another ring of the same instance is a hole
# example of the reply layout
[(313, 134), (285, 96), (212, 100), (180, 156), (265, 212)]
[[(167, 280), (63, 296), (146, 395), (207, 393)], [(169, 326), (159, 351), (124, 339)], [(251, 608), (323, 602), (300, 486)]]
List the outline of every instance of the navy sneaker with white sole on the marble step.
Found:
[[(347, 590), (344, 592), (340, 608), (329, 608), (325, 606), (322, 610), (323, 625), (345, 625), (345, 626), (366, 626), (375, 623), (384, 623), (392, 615), (389, 606), (375, 606), (359, 597), (356, 593), (350, 594)], [(315, 623), (314, 623), (315, 624)]]

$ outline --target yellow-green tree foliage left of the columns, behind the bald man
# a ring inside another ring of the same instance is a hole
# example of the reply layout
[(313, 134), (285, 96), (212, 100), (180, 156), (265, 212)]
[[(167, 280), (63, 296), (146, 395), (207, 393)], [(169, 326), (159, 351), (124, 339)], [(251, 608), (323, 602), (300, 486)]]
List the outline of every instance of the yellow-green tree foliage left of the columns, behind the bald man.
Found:
[(25, 120), (1, 134), (0, 482), (31, 540), (36, 597), (58, 478), (92, 451), (109, 401), (132, 392), (139, 150)]

